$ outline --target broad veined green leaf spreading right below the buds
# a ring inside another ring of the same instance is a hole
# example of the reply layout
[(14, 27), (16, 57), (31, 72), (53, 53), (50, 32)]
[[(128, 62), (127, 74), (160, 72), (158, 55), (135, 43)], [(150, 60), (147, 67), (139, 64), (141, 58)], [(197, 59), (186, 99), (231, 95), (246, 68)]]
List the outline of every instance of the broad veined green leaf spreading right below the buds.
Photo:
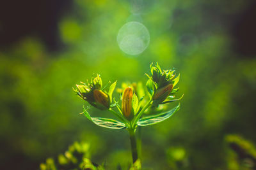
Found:
[(159, 113), (157, 115), (140, 118), (140, 120), (137, 122), (137, 125), (146, 126), (146, 125), (153, 125), (153, 124), (162, 122), (162, 121), (166, 120), (167, 118), (171, 117), (173, 115), (173, 113), (175, 113), (176, 111), (179, 110), (179, 108), (180, 108), (180, 104), (178, 104), (172, 110), (167, 111), (166, 113)]

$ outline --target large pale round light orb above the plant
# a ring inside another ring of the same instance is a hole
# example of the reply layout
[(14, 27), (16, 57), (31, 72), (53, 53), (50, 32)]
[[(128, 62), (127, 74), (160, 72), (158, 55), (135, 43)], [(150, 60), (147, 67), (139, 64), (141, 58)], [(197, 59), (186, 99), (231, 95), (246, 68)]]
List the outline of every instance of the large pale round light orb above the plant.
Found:
[(117, 34), (119, 48), (129, 55), (142, 53), (147, 48), (149, 41), (148, 29), (140, 22), (127, 22)]

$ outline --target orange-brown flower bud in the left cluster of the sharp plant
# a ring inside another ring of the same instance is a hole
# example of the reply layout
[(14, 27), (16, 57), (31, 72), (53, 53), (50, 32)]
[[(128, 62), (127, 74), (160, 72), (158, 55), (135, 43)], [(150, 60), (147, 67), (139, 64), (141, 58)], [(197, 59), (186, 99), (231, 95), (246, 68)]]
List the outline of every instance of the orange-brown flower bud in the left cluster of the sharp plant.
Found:
[(99, 109), (106, 110), (109, 108), (109, 96), (102, 92), (102, 90), (93, 90), (93, 97)]

